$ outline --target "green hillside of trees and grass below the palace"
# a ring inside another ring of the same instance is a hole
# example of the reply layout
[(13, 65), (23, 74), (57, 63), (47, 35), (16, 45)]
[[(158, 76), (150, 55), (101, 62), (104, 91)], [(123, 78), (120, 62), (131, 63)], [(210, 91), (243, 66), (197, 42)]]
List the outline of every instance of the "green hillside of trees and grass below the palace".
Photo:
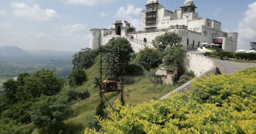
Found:
[[(176, 56), (184, 56), (183, 48), (178, 43), (174, 43), (175, 46), (170, 45), (173, 42), (165, 41), (165, 43), (168, 44), (167, 55), (172, 52)], [(157, 100), (179, 87), (176, 83), (174, 85), (155, 83), (155, 73), (163, 60), (159, 49), (146, 49), (134, 54), (131, 44), (124, 38), (112, 38), (101, 49), (122, 51), (122, 53), (107, 52), (103, 57), (104, 60), (126, 61), (123, 63), (124, 92), (118, 98), (122, 105), (135, 106)], [(97, 96), (98, 88), (95, 84), (98, 84), (99, 77), (98, 54), (98, 50), (90, 49), (75, 54), (72, 62), (74, 69), (68, 77), (68, 82), (53, 75), (53, 71), (43, 69), (31, 75), (20, 74), (17, 81), (8, 80), (4, 83), (4, 93), (0, 95), (0, 133), (79, 134), (87, 127), (100, 130), (102, 126), (99, 126), (95, 115), (103, 117), (109, 105)], [(181, 65), (180, 58), (173, 59), (175, 62), (166, 59), (166, 64)], [(146, 64), (151, 60), (151, 63)], [(104, 63), (104, 65), (114, 70), (104, 73), (103, 80), (115, 76), (117, 81), (120, 81), (119, 76), (123, 72), (119, 67), (120, 63)], [(110, 103), (113, 103), (116, 95), (117, 92), (105, 94)], [(22, 116), (18, 116), (19, 114)]]

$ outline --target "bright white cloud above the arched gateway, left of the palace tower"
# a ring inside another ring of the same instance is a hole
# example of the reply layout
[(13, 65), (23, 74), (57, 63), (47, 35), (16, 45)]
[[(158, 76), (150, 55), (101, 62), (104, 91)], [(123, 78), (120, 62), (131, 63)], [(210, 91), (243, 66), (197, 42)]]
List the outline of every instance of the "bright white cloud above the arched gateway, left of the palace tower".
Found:
[(116, 13), (115, 18), (119, 18), (122, 20), (132, 22), (132, 25), (136, 27), (136, 29), (140, 28), (140, 21), (138, 19), (134, 19), (138, 14), (141, 13), (142, 8), (136, 8), (132, 4), (127, 4), (127, 8), (120, 7)]

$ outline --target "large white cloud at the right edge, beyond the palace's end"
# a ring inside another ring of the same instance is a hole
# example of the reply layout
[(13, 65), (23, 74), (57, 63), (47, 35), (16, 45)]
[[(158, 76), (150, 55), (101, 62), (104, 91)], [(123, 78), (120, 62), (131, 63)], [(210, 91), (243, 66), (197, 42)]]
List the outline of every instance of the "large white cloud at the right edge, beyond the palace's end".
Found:
[(238, 49), (250, 49), (250, 42), (256, 41), (256, 2), (248, 5), (244, 18), (238, 25)]

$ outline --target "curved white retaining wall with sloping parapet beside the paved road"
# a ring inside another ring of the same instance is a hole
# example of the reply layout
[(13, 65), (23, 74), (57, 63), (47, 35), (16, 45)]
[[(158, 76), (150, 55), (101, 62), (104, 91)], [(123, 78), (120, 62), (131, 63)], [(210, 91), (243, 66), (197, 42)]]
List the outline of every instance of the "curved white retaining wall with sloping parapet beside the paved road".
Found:
[[(186, 57), (184, 59), (184, 68), (187, 70), (194, 71), (195, 75), (198, 78), (203, 78), (204, 76), (210, 76), (211, 74), (216, 74), (216, 63), (214, 60), (209, 59), (206, 56), (195, 54), (191, 52), (186, 52)], [(193, 79), (194, 80), (194, 79)], [(185, 93), (186, 90), (193, 90), (191, 87), (191, 81), (183, 84), (181, 87), (176, 88), (172, 92), (160, 98), (160, 100), (164, 100), (171, 96), (171, 94), (175, 93)]]

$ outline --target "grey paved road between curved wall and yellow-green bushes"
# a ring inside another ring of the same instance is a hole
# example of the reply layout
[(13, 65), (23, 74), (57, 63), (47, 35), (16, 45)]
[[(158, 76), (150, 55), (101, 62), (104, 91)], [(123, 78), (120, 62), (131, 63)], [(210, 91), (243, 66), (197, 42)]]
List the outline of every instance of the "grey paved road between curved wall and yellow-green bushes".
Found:
[(221, 71), (221, 74), (234, 74), (235, 71), (239, 71), (249, 67), (256, 67), (256, 63), (238, 63), (226, 60), (214, 60), (216, 62), (216, 66)]

